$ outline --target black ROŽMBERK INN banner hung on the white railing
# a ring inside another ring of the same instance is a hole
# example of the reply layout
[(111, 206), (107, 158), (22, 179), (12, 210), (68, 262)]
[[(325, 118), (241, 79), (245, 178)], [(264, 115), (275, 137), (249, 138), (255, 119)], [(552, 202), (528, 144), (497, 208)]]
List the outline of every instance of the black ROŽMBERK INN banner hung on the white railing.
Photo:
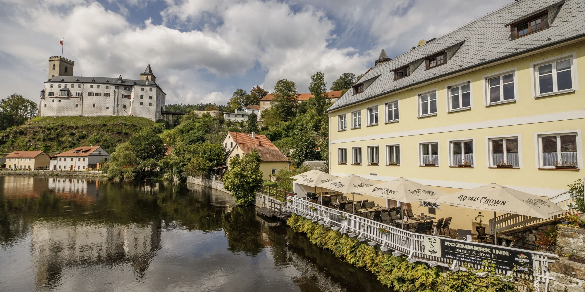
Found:
[(486, 261), (504, 270), (532, 272), (532, 254), (530, 251), (517, 251), (500, 245), (480, 245), (474, 242), (459, 242), (446, 238), (441, 238), (440, 240), (442, 258), (477, 265), (481, 265), (482, 262)]

